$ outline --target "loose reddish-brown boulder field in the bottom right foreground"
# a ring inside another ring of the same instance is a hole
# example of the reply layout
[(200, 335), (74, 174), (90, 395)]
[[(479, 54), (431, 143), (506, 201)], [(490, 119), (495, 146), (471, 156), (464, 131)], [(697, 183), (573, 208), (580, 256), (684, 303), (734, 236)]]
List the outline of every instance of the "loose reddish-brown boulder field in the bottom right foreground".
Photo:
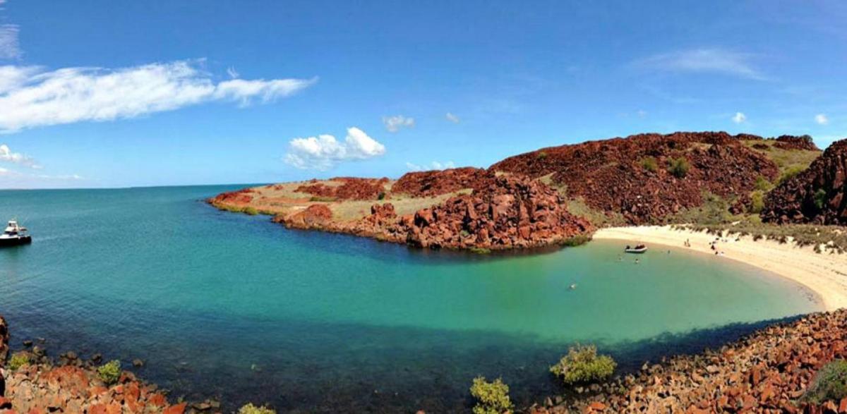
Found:
[[(575, 400), (547, 399), (527, 410), (566, 412), (844, 413), (847, 398), (813, 405), (801, 398), (827, 362), (847, 358), (847, 310), (764, 328), (717, 351), (645, 363)], [(841, 379), (844, 381), (844, 378)]]

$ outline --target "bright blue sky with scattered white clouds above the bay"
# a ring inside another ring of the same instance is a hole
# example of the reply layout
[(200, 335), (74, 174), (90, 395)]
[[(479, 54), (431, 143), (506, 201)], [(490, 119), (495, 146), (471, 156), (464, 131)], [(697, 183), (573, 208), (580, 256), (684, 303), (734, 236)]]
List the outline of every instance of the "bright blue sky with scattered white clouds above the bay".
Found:
[(847, 136), (847, 2), (0, 0), (0, 188), (487, 167), (643, 132)]

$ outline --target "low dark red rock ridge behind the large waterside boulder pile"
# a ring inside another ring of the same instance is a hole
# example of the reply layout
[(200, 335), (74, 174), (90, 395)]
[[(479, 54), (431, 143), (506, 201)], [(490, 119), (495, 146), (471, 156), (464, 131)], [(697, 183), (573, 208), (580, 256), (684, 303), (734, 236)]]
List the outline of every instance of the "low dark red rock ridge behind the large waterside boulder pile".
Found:
[(490, 173), (483, 168), (463, 167), (404, 174), (391, 186), (391, 192), (412, 197), (431, 197), (466, 188), (475, 188)]

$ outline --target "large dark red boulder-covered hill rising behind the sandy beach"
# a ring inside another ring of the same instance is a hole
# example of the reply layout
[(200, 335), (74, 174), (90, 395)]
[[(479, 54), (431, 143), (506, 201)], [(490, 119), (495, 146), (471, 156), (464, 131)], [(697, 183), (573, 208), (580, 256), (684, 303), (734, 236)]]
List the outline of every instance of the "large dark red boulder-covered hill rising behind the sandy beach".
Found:
[[(775, 163), (725, 132), (642, 134), (556, 146), (509, 157), (492, 171), (526, 174), (567, 187), (595, 209), (622, 213), (631, 224), (661, 222), (683, 208), (699, 207), (704, 191), (736, 196), (758, 177), (774, 179)], [(674, 168), (676, 165), (676, 168)]]

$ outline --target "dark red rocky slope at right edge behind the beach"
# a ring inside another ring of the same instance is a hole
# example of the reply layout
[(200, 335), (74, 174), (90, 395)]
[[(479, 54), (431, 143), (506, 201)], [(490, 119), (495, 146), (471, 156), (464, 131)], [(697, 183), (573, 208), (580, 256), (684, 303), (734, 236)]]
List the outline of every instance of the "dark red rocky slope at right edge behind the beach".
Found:
[(765, 197), (762, 221), (847, 225), (847, 140), (837, 141), (808, 169)]

